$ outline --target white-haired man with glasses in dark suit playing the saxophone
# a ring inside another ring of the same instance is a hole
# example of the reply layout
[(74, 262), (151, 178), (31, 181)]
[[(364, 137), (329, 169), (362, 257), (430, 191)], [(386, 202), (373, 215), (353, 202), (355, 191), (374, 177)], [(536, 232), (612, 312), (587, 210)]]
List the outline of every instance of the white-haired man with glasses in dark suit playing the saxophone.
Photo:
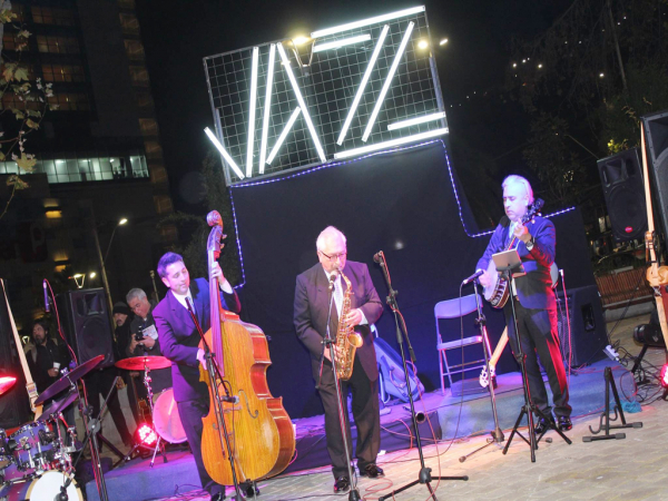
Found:
[[(333, 226), (326, 227), (317, 237), (316, 249), (320, 263), (297, 276), (294, 324), (297, 336), (311, 354), (313, 377), (325, 410), (327, 452), (335, 479), (334, 492), (342, 493), (350, 489), (351, 479), (338, 420), (338, 404), (328, 348), (324, 351), (323, 361), (323, 338), (327, 335), (327, 317), (330, 316), (330, 335), (334, 338), (338, 333), (343, 307), (345, 317), (341, 324), (354, 326), (363, 340), (352, 361), (352, 375), (350, 380), (341, 381), (341, 389), (343, 403), (346, 406), (348, 391), (352, 390), (353, 394), (352, 411), (357, 428), (355, 456), (360, 474), (379, 478), (384, 474), (375, 463), (381, 444), (379, 370), (369, 325), (379, 320), (383, 305), (371, 282), (369, 267), (364, 263), (346, 262), (347, 248), (343, 233)], [(342, 274), (347, 279), (342, 279)], [(333, 292), (330, 292), (331, 281), (334, 285)], [(350, 289), (347, 282), (350, 282)], [(334, 301), (330, 315), (331, 294)], [(350, 307), (344, 307), (345, 298), (350, 298)], [(335, 353), (337, 362), (345, 356), (340, 346), (335, 347)], [(344, 413), (345, 440), (348, 441), (348, 450), (353, 451), (347, 409)]]

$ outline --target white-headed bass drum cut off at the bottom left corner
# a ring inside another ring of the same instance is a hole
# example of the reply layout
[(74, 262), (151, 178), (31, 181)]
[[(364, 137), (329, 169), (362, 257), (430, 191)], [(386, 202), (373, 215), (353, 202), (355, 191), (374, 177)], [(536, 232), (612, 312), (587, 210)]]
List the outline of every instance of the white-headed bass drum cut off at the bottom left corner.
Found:
[(68, 473), (58, 470), (47, 471), (27, 482), (9, 483), (0, 490), (0, 500), (4, 501), (47, 501), (58, 499), (60, 488), (71, 479), (67, 487), (69, 501), (84, 501), (79, 485)]

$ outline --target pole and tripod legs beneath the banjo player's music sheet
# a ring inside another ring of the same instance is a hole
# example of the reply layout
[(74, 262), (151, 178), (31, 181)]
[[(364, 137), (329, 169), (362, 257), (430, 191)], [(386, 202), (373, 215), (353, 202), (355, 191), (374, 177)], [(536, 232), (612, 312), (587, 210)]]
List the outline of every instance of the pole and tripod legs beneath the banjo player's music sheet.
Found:
[[(519, 266), (521, 266), (521, 264), (518, 264), (517, 266), (497, 267), (497, 271), (501, 272), (501, 276), (508, 281), (508, 285), (510, 287), (510, 296), (509, 296), (508, 301), (510, 301), (511, 318), (512, 318), (512, 325), (514, 327), (513, 331), (514, 331), (515, 345), (518, 348), (518, 351), (515, 353), (515, 358), (517, 358), (518, 363), (520, 364), (520, 372), (522, 373), (522, 389), (524, 391), (524, 405), (522, 405), (520, 415), (518, 416), (518, 420), (515, 421), (512, 432), (510, 433), (510, 436), (508, 438), (505, 448), (503, 448), (503, 454), (508, 453), (508, 449), (510, 448), (510, 444), (512, 443), (512, 439), (517, 433), (524, 442), (527, 442), (529, 444), (529, 448), (531, 449), (531, 462), (534, 463), (536, 462), (536, 450), (538, 449), (538, 442), (540, 442), (540, 439), (542, 439), (542, 436), (547, 433), (548, 429), (552, 429), (557, 433), (559, 433), (559, 435), (569, 445), (572, 442), (568, 436), (566, 436), (563, 434), (563, 432), (561, 430), (559, 430), (559, 426), (557, 426), (557, 423), (554, 423), (552, 420), (549, 420), (548, 416), (546, 416), (540, 409), (538, 409), (536, 405), (533, 405), (533, 402), (531, 400), (531, 392), (529, 391), (529, 380), (527, 377), (527, 355), (524, 354), (524, 352), (522, 350), (522, 343), (520, 340), (520, 331), (518, 330), (518, 317), (517, 317), (517, 313), (515, 313), (515, 308), (514, 308), (514, 284), (512, 283), (512, 271)], [(508, 338), (510, 340), (510, 328), (508, 330)], [(533, 428), (533, 414), (534, 413), (537, 415), (541, 416), (544, 420), (544, 422), (548, 424), (548, 429), (546, 429), (538, 439), (536, 438), (536, 431)], [(518, 430), (520, 423), (522, 422), (522, 419), (524, 418), (524, 414), (527, 414), (527, 421), (529, 424), (529, 440), (527, 440), (527, 438), (524, 435), (522, 435), (522, 433)], [(548, 439), (548, 440), (551, 440), (551, 439)]]

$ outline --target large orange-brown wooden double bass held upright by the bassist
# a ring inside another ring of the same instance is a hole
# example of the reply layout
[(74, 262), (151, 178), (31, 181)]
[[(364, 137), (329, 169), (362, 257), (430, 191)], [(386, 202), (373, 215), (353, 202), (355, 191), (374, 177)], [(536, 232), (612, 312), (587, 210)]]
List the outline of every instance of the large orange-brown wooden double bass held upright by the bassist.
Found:
[[(220, 239), (225, 238), (223, 219), (213, 210), (207, 222), (213, 227), (207, 242), (212, 316), (205, 340), (219, 372), (209, 377), (200, 366), (200, 380), (207, 383), (210, 399), (209, 413), (202, 420), (202, 456), (215, 482), (232, 485), (233, 462), (237, 482), (265, 479), (285, 470), (295, 451), (295, 432), (283, 399), (272, 396), (267, 386), (272, 361), (264, 333), (222, 307), (218, 281), (210, 271), (220, 255)], [(217, 404), (217, 395), (225, 401)], [(233, 461), (222, 440), (223, 430), (227, 430)]]

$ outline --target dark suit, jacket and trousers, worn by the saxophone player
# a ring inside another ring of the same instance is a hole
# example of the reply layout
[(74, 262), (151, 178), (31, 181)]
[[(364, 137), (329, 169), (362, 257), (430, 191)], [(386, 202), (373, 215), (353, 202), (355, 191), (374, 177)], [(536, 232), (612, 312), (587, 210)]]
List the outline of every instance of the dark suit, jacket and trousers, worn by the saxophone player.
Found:
[[(343, 274), (351, 281), (352, 296), (351, 308), (360, 308), (369, 324), (374, 323), (383, 312), (383, 305), (371, 282), (369, 268), (363, 263), (347, 262)], [(338, 404), (334, 385), (332, 364), (325, 360), (322, 379), (320, 379), (320, 361), (323, 353), (322, 341), (327, 332), (327, 313), (330, 306), (330, 291), (327, 275), (318, 263), (297, 276), (294, 304), (294, 324), (297, 336), (308, 348), (313, 377), (317, 386), (323, 406), (325, 409), (325, 433), (327, 435), (327, 451), (332, 460), (332, 471), (335, 478), (347, 477), (347, 464), (343, 435), (338, 421)], [(336, 335), (338, 314), (336, 307), (332, 308), (330, 333)], [(381, 418), (377, 397), (379, 369), (376, 364), (373, 335), (369, 326), (361, 325), (360, 334), (364, 344), (357, 348), (353, 365), (353, 375), (348, 381), (342, 381), (343, 402), (347, 406), (348, 387), (353, 391), (353, 416), (357, 428), (356, 458), (360, 470), (369, 464), (374, 464), (381, 444)], [(350, 436), (350, 423), (346, 426)], [(352, 444), (350, 444), (352, 450)]]

